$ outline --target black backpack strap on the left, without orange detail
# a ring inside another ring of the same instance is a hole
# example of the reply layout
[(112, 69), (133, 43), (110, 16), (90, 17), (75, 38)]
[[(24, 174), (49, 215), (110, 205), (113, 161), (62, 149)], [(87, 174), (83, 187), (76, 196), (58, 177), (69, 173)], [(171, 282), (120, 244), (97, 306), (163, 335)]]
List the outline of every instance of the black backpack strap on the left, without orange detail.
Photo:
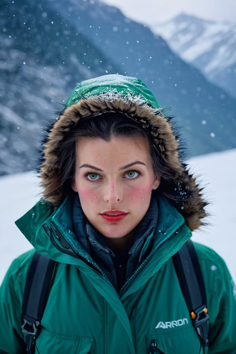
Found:
[(22, 333), (28, 354), (35, 351), (35, 339), (39, 335), (48, 293), (56, 270), (56, 262), (34, 253), (28, 271), (22, 302)]

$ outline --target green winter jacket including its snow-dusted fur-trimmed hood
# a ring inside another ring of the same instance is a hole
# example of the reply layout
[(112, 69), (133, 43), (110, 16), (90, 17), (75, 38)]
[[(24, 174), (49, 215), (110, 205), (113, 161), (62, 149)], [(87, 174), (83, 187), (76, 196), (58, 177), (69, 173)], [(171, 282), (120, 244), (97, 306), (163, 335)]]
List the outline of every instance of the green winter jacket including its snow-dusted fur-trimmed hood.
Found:
[[(153, 339), (158, 353), (203, 353), (171, 257), (190, 238), (191, 231), (201, 226), (206, 202), (182, 162), (179, 133), (164, 112), (139, 79), (104, 75), (77, 85), (47, 130), (38, 171), (43, 197), (17, 221), (35, 250), (58, 262), (36, 339), (36, 354), (148, 354)], [(153, 191), (158, 204), (157, 227), (140, 250), (143, 263), (119, 293), (78, 246), (71, 217), (75, 193), (70, 183), (73, 170), (68, 170), (67, 164), (71, 156), (63, 150), (70, 146), (74, 151), (70, 137), (81, 122), (106, 113), (122, 113), (145, 130), (161, 176), (159, 188)], [(142, 257), (150, 245), (148, 256)], [(198, 244), (195, 247), (210, 316), (208, 354), (234, 354), (234, 283), (214, 251)], [(21, 306), (33, 253), (17, 258), (1, 285), (0, 354), (24, 353)]]

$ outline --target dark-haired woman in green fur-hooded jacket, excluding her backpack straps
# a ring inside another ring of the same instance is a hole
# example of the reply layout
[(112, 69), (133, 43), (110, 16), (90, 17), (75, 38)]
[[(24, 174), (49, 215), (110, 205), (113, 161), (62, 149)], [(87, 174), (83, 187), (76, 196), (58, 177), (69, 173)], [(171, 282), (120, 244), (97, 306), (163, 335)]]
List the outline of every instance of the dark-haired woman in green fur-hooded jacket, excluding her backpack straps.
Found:
[[(42, 145), (44, 196), (16, 222), (58, 262), (35, 353), (203, 353), (171, 259), (206, 205), (178, 141), (136, 78), (105, 75), (72, 92)], [(214, 251), (195, 248), (210, 315), (206, 352), (236, 353), (230, 274)], [(12, 263), (1, 287), (1, 353), (25, 350), (33, 254)]]

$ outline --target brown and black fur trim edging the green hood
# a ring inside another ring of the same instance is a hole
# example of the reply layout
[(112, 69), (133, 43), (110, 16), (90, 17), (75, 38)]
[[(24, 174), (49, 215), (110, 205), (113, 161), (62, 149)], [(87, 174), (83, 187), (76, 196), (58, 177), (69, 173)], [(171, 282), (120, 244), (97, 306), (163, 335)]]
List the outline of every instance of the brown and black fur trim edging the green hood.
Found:
[(180, 160), (178, 141), (174, 136), (173, 127), (160, 112), (158, 114), (157, 110), (148, 105), (140, 105), (139, 101), (126, 102), (122, 99), (105, 101), (88, 98), (65, 109), (51, 126), (42, 149), (43, 162), (40, 165), (40, 176), (44, 199), (57, 207), (65, 197), (64, 186), (60, 179), (57, 148), (69, 131), (81, 118), (108, 112), (127, 114), (150, 131), (157, 155), (165, 166), (159, 189), (182, 213), (190, 230), (197, 229), (201, 225), (201, 219), (205, 217), (206, 202), (202, 199), (195, 178), (189, 175), (186, 166)]

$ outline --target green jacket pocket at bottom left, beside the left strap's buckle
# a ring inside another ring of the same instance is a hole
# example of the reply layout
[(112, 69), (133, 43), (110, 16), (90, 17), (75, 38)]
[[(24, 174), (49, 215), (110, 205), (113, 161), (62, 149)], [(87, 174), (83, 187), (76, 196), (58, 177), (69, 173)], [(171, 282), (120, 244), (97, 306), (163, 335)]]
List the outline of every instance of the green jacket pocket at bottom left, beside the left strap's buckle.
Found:
[(92, 354), (93, 338), (67, 336), (41, 330), (35, 354)]

